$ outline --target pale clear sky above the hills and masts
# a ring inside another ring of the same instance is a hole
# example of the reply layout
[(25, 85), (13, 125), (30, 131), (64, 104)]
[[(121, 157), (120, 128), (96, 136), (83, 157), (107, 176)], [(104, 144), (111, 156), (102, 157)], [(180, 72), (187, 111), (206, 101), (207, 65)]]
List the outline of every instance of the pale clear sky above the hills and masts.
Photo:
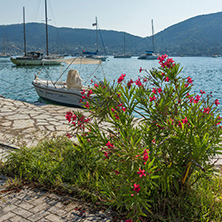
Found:
[[(45, 0), (0, 0), (0, 25), (44, 22)], [(222, 11), (222, 0), (47, 0), (48, 24), (56, 27), (124, 31), (152, 35), (189, 18)]]

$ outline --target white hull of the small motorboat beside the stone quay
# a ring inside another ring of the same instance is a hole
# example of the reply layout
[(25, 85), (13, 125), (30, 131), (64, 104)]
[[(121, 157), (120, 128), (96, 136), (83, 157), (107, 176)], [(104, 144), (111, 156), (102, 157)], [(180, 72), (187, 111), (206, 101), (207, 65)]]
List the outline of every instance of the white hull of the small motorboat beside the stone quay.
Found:
[(35, 80), (32, 82), (38, 96), (43, 100), (66, 106), (82, 107), (80, 102), (82, 99), (81, 91), (70, 90), (67, 88), (55, 88), (53, 86), (40, 85)]

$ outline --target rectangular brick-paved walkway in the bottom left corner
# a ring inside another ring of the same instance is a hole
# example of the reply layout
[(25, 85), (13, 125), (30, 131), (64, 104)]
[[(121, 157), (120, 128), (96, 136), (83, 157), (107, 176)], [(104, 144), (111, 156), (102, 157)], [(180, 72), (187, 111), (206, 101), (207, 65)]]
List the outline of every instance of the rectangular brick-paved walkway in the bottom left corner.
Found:
[(38, 189), (5, 190), (7, 178), (0, 175), (1, 222), (113, 221), (109, 212), (92, 210), (92, 206)]

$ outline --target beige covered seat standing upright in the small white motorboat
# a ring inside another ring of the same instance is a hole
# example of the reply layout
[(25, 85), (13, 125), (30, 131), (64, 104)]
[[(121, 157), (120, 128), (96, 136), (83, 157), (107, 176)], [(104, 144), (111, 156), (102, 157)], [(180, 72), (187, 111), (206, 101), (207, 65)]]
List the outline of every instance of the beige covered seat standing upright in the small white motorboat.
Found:
[(66, 79), (66, 86), (68, 89), (76, 89), (76, 90), (82, 90), (82, 79), (79, 75), (78, 70), (71, 69), (68, 72), (68, 76)]

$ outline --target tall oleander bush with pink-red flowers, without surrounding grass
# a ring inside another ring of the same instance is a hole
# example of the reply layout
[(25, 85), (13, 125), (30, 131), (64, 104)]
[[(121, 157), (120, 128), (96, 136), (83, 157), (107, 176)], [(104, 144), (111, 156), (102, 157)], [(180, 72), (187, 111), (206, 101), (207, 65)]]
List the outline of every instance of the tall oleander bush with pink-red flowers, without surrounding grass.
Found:
[(193, 94), (191, 77), (180, 77), (180, 65), (166, 55), (159, 63), (157, 70), (141, 68), (145, 76), (135, 81), (124, 84), (122, 74), (95, 83), (82, 92), (90, 117), (66, 116), (73, 133), (80, 130), (78, 147), (106, 168), (103, 199), (132, 220), (152, 214), (156, 197), (186, 197), (200, 178), (210, 178), (211, 158), (221, 153), (219, 101), (203, 90)]

